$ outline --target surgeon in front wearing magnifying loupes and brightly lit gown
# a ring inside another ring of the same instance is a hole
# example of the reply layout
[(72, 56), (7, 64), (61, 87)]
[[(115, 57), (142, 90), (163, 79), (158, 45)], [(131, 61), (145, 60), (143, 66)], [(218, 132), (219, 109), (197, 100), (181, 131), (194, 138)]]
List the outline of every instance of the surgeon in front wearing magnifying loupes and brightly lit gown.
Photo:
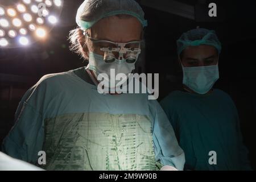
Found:
[(184, 152), (156, 100), (97, 89), (102, 73), (134, 70), (147, 25), (141, 7), (134, 0), (86, 0), (76, 22), (72, 50), (88, 66), (46, 75), (28, 90), (3, 151), (32, 164), (40, 156), (47, 170), (182, 170)]

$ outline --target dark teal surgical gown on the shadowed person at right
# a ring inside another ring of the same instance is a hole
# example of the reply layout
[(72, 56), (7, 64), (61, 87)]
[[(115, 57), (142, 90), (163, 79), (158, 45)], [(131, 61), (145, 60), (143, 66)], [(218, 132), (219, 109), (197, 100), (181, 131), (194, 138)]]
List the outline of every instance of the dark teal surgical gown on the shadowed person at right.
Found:
[(250, 169), (236, 106), (228, 94), (218, 89), (208, 95), (175, 91), (160, 105), (184, 150), (184, 169)]

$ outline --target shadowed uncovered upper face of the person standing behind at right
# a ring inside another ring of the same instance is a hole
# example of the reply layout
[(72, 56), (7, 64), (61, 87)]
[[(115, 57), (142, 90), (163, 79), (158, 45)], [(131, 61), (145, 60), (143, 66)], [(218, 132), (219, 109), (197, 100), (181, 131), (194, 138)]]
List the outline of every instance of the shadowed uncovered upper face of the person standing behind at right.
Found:
[(206, 67), (218, 64), (218, 53), (213, 46), (190, 46), (184, 49), (180, 59), (183, 67)]

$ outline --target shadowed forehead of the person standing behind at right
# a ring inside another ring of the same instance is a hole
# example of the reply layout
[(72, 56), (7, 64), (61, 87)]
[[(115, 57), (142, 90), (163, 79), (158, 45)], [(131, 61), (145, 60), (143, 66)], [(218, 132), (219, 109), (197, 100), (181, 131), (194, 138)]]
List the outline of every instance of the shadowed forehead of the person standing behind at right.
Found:
[(217, 55), (217, 49), (209, 45), (189, 46), (184, 49), (183, 56), (191, 58), (209, 57)]

